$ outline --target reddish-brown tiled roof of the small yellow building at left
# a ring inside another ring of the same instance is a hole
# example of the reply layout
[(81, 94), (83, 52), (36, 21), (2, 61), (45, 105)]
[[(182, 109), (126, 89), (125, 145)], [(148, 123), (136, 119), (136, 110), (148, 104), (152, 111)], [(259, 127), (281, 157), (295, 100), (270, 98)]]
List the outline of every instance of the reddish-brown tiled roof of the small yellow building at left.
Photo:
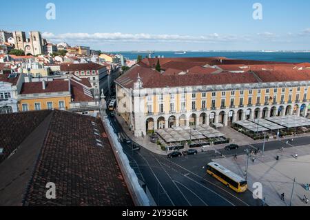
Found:
[(54, 80), (45, 81), (45, 90), (43, 90), (42, 82), (30, 82), (23, 83), (21, 88), (21, 94), (34, 94), (34, 93), (45, 93), (45, 92), (68, 92), (69, 81)]

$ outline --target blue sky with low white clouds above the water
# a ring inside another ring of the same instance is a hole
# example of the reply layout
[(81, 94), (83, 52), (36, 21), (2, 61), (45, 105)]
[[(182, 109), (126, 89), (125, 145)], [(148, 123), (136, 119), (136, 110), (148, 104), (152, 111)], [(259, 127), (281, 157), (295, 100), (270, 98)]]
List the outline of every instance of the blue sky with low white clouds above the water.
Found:
[(305, 0), (15, 0), (1, 8), (2, 30), (39, 30), (52, 43), (94, 50), (310, 50)]

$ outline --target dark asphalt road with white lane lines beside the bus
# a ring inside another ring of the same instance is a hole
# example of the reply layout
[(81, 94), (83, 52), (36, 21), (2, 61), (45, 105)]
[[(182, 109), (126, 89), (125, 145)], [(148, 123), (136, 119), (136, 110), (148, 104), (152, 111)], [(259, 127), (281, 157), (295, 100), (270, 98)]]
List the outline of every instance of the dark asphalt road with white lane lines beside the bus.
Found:
[[(116, 119), (110, 121), (116, 133), (123, 133)], [(206, 173), (205, 165), (220, 157), (214, 152), (167, 159), (145, 148), (133, 151), (131, 146), (122, 145), (130, 166), (158, 206), (261, 206), (249, 190), (238, 194)]]

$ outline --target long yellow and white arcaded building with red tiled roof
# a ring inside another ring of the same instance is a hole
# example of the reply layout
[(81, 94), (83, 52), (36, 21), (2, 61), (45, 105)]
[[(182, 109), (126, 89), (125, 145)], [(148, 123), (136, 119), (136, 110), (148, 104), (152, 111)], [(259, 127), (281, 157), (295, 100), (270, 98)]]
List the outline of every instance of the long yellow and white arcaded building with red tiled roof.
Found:
[(145, 59), (116, 80), (117, 111), (136, 137), (178, 126), (228, 126), (291, 114), (307, 117), (310, 72), (298, 64), (159, 59), (158, 72), (153, 67), (157, 60)]

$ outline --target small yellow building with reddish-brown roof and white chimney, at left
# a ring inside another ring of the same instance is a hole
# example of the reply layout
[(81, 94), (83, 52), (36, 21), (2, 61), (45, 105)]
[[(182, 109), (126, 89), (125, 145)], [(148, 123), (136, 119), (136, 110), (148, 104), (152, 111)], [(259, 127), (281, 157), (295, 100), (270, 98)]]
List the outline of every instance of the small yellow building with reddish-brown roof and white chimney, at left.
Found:
[(19, 111), (68, 110), (70, 101), (70, 81), (56, 80), (23, 83), (19, 94)]

